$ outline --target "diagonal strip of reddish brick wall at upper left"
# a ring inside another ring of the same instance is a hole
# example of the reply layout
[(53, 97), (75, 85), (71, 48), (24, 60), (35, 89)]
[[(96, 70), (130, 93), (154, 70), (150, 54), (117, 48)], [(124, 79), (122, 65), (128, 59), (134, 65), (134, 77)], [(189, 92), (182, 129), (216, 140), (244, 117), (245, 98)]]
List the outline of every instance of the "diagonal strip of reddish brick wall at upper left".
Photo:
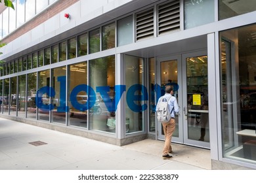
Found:
[[(11, 42), (14, 39), (16, 39), (17, 37), (20, 37), (21, 35), (23, 35), (24, 33), (30, 31), (31, 29), (33, 29), (34, 27), (37, 27), (37, 25), (42, 24), (43, 22), (45, 22), (46, 20), (48, 20), (49, 18), (53, 17), (54, 15), (58, 14), (59, 12), (61, 12), (62, 10), (70, 7), (71, 5), (73, 5), (74, 3), (76, 3), (79, 0), (59, 0), (57, 3), (55, 3), (53, 6), (45, 9), (40, 16), (37, 16), (35, 18), (33, 18), (31, 21), (27, 22), (26, 24), (22, 25), (21, 27), (19, 27), (18, 29), (16, 29), (15, 31), (13, 31), (11, 34), (7, 35), (7, 37), (3, 38), (1, 40), (1, 42)], [(1, 12), (1, 8), (5, 8), (4, 3), (0, 3), (0, 12)]]

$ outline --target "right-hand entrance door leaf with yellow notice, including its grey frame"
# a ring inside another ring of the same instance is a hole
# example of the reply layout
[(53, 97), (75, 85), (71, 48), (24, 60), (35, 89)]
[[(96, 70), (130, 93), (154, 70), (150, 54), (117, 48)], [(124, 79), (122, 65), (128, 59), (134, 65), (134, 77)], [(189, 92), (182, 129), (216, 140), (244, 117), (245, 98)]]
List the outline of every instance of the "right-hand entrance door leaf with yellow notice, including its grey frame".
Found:
[(207, 55), (182, 55), (184, 144), (209, 148)]

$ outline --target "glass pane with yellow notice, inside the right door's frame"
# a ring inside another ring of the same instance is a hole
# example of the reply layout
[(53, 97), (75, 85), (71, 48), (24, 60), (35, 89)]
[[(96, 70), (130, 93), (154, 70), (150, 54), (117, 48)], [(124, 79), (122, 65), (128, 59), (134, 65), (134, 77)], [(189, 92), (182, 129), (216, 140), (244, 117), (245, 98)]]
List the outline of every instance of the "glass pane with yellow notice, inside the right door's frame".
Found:
[(207, 56), (186, 58), (188, 139), (209, 142)]

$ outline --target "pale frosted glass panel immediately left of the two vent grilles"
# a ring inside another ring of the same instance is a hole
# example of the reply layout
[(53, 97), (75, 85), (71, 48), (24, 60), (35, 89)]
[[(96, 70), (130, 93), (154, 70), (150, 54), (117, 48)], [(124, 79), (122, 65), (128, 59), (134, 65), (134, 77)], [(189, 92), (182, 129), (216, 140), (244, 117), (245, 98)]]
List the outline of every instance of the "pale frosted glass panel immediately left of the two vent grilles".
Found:
[(128, 16), (117, 22), (117, 46), (133, 42), (133, 16)]

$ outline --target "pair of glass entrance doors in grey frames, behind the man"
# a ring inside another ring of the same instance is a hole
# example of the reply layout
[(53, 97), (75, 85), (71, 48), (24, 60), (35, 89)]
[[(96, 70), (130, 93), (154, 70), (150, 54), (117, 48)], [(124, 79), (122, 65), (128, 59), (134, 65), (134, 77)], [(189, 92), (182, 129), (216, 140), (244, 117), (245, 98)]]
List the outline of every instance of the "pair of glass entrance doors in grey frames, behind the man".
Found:
[[(172, 141), (209, 148), (207, 53), (158, 58), (157, 71), (161, 95), (166, 85), (172, 85), (179, 104)], [(158, 139), (164, 138), (161, 123), (158, 123)]]

